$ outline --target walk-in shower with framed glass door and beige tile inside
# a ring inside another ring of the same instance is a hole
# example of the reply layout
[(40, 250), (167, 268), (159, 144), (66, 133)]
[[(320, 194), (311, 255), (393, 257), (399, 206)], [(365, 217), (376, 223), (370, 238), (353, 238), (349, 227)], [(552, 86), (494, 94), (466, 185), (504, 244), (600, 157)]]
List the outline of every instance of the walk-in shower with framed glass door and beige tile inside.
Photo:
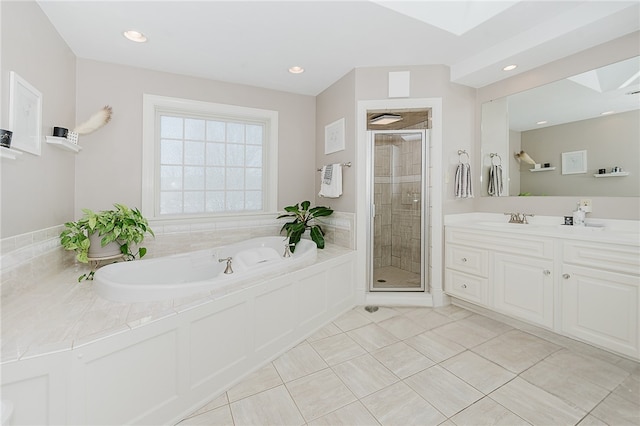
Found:
[(428, 130), (371, 131), (371, 291), (428, 288)]

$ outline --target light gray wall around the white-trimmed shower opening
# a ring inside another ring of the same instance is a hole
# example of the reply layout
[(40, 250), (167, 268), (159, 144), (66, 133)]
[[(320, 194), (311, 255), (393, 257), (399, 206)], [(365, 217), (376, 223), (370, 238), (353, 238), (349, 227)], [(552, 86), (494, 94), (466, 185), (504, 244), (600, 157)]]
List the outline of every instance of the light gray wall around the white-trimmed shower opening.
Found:
[[(334, 83), (318, 96), (317, 101), (317, 147), (318, 165), (354, 161), (356, 156), (356, 108), (358, 101), (389, 99), (388, 78), (392, 71), (410, 71), (410, 98), (442, 98), (443, 104), (443, 155), (432, 160), (433, 173), (444, 174), (444, 213), (472, 211), (471, 199), (457, 200), (454, 197), (453, 176), (458, 163), (458, 149), (466, 149), (473, 155), (475, 137), (474, 123), (475, 90), (450, 82), (449, 68), (443, 65), (357, 68)], [(324, 155), (324, 126), (345, 117), (345, 150)], [(472, 157), (473, 158), (473, 157)], [(329, 203), (340, 211), (355, 212), (356, 195), (364, 188), (356, 188), (355, 164), (352, 169), (343, 169), (344, 195), (339, 199), (317, 198), (318, 203)], [(319, 178), (318, 178), (319, 179)], [(316, 185), (319, 187), (319, 181)], [(317, 192), (316, 188), (316, 192)]]

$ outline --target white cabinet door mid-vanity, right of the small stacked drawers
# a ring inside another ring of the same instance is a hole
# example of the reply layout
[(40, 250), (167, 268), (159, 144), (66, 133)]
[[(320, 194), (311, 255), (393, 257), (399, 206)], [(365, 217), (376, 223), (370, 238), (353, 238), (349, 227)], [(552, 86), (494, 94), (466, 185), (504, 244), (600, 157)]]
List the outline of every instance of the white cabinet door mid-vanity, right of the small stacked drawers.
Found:
[(497, 311), (553, 327), (553, 261), (496, 253), (494, 307)]

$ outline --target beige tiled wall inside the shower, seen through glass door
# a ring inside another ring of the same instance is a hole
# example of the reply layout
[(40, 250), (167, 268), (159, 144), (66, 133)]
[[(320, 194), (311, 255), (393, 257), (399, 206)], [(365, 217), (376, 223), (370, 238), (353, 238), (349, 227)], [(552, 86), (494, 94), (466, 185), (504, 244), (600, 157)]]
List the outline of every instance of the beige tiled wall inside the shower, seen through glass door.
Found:
[(374, 159), (374, 267), (420, 273), (421, 142), (382, 136)]

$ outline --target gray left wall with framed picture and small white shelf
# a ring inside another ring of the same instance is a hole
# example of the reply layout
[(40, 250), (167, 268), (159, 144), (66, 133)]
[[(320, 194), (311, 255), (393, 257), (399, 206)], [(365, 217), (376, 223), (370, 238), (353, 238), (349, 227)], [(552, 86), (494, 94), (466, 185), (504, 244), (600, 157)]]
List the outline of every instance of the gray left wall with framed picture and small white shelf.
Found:
[(2, 114), (9, 129), (9, 75), (42, 93), (42, 152), (0, 160), (2, 238), (73, 218), (75, 155), (44, 143), (53, 126), (73, 127), (75, 56), (35, 2), (0, 2)]

